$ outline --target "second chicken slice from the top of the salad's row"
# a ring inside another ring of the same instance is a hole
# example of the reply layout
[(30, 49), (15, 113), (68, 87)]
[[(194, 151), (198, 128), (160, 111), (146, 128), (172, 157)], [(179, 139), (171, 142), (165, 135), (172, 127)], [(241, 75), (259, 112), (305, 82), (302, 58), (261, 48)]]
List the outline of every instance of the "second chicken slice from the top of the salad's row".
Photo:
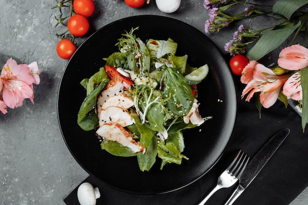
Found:
[(101, 105), (101, 109), (105, 110), (110, 106), (118, 106), (123, 109), (128, 109), (134, 105), (133, 99), (127, 96), (124, 92), (108, 97)]

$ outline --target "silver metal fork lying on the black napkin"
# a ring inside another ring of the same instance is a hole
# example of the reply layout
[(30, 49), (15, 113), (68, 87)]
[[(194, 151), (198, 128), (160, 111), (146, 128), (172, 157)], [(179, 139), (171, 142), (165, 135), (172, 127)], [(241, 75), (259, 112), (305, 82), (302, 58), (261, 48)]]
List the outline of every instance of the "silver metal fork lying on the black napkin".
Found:
[(244, 155), (244, 152), (240, 150), (230, 166), (218, 177), (216, 187), (199, 203), (199, 205), (204, 205), (217, 190), (234, 185), (242, 175), (248, 161), (249, 157), (247, 157), (247, 154)]

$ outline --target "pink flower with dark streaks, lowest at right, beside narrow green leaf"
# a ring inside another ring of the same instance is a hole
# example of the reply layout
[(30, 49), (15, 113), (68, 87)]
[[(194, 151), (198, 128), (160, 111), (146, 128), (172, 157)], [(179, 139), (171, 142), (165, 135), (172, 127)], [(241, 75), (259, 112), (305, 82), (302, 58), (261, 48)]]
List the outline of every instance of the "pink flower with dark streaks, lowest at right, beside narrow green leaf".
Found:
[(303, 99), (303, 90), (301, 85), (301, 71), (294, 73), (284, 84), (283, 94), (293, 100)]

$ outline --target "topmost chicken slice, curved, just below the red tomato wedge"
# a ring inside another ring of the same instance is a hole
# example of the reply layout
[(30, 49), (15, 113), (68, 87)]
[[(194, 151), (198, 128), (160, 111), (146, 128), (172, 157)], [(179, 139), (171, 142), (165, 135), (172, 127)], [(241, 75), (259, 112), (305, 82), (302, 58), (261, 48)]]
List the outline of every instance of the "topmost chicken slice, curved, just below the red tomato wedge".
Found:
[(101, 91), (101, 93), (97, 97), (97, 115), (98, 118), (100, 116), (101, 107), (104, 104), (104, 102), (110, 97), (117, 95), (121, 92), (123, 92), (123, 84), (121, 82), (116, 82), (114, 80), (111, 80), (106, 85), (105, 89)]

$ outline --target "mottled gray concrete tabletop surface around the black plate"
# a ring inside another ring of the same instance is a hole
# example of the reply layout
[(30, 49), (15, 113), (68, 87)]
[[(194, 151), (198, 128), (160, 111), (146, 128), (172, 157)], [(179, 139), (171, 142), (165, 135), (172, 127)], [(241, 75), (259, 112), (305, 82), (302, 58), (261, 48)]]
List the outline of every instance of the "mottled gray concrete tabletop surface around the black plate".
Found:
[[(60, 1), (60, 0), (59, 0)], [(115, 20), (142, 14), (180, 19), (204, 32), (208, 15), (203, 0), (183, 0), (178, 12), (161, 13), (154, 0), (132, 9), (123, 0), (94, 0), (96, 10), (89, 18), (91, 30)], [(57, 119), (57, 92), (67, 60), (56, 54), (61, 27), (55, 28), (51, 9), (56, 0), (0, 0), (0, 53), (25, 63), (37, 61), (43, 71), (34, 86), (35, 104), (24, 101), (20, 108), (0, 114), (0, 204), (64, 205), (63, 199), (88, 174), (67, 149)], [(233, 31), (209, 35), (223, 52)], [(87, 36), (78, 38), (84, 41)], [(6, 58), (1, 58), (4, 65)], [(308, 204), (308, 189), (290, 205)]]

